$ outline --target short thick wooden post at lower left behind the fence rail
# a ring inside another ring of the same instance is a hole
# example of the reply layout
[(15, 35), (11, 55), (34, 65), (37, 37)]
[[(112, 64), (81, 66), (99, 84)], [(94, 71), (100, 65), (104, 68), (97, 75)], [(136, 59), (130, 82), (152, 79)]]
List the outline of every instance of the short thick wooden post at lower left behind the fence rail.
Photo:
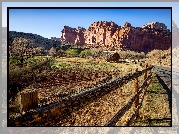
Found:
[(21, 113), (38, 107), (38, 91), (26, 89), (21, 92)]

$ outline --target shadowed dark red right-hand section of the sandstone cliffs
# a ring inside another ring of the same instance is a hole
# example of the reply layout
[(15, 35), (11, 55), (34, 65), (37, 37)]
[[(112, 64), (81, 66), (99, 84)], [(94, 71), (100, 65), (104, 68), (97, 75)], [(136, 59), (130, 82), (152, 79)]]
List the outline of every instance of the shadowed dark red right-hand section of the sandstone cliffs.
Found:
[[(154, 49), (169, 49), (171, 47), (169, 30), (155, 29), (155, 24), (149, 23), (143, 26), (143, 28), (134, 28), (126, 22), (119, 32), (119, 42), (122, 48), (139, 52), (149, 52)], [(163, 26), (163, 24), (161, 25)]]

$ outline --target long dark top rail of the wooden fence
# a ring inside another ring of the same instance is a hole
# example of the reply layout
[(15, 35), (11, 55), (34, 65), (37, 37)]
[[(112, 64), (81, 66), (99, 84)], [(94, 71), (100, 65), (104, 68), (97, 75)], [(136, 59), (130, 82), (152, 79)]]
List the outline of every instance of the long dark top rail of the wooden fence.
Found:
[[(79, 108), (82, 108), (85, 105), (87, 105), (89, 102), (95, 101), (97, 98), (99, 98), (105, 94), (108, 94), (109, 92), (111, 92), (113, 90), (116, 90), (118, 87), (123, 86), (124, 84), (127, 84), (130, 80), (134, 80), (135, 78), (138, 78), (143, 73), (145, 73), (145, 75), (146, 75), (147, 71), (151, 70), (152, 68), (153, 68), (153, 66), (150, 66), (142, 71), (137, 70), (137, 72), (135, 72), (133, 74), (128, 74), (122, 78), (118, 78), (114, 81), (108, 82), (108, 83), (101, 85), (99, 87), (92, 88), (91, 90), (84, 91), (84, 92), (74, 95), (68, 99), (63, 99), (60, 102), (48, 104), (47, 106), (37, 108), (37, 109), (35, 109), (34, 113), (27, 112), (25, 115), (23, 115), (17, 119), (11, 120), (10, 124), (13, 125), (13, 124), (15, 124), (15, 122), (17, 122), (19, 120), (21, 122), (26, 122), (27, 118), (32, 120), (34, 115), (41, 116), (42, 114), (39, 114), (39, 113), (44, 113), (44, 112), (46, 113), (48, 111), (55, 111), (56, 113), (58, 113), (58, 116), (60, 116), (60, 119), (63, 119), (68, 114), (71, 114), (72, 111), (78, 110)], [(145, 79), (143, 86), (146, 86), (146, 81), (149, 78), (150, 77), (147, 77)], [(140, 87), (140, 88), (143, 88), (143, 87)], [(123, 109), (128, 109), (128, 107), (133, 103), (133, 101), (135, 101), (136, 98), (138, 98), (138, 96), (139, 96), (139, 94), (141, 94), (141, 92), (142, 92), (142, 90), (138, 91), (137, 94), (135, 94), (135, 96), (129, 102), (129, 104), (127, 106), (125, 106)], [(53, 109), (55, 109), (55, 110), (53, 110)], [(27, 117), (27, 115), (28, 115), (28, 117)], [(49, 116), (49, 114), (47, 114), (47, 116), (43, 116), (43, 118), (49, 118), (48, 116)], [(42, 117), (40, 117), (40, 118), (42, 118)]]

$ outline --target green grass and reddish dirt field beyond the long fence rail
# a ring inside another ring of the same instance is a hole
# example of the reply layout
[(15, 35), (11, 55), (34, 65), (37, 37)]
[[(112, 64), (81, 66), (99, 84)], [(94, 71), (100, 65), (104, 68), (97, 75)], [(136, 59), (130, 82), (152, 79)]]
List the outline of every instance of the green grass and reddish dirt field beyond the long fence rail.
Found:
[[(38, 60), (38, 58), (34, 58), (35, 60)], [(133, 68), (141, 68), (136, 64), (125, 65), (106, 62), (98, 63), (92, 59), (77, 57), (55, 58), (51, 67), (51, 71), (43, 70), (41, 73), (36, 74), (36, 80), (39, 85), (40, 105), (50, 103), (51, 101), (59, 101), (59, 99), (62, 99), (63, 97), (75, 95), (103, 83), (125, 76), (128, 73), (132, 73)], [(30, 69), (29, 67), (16, 67), (15, 69), (10, 69), (10, 71), (15, 72), (15, 74), (17, 73), (18, 77), (24, 77), (26, 76), (25, 72), (30, 72)], [(47, 80), (42, 81), (42, 76), (46, 77)], [(29, 85), (29, 88), (31, 87), (33, 86)], [(15, 97), (16, 100), (18, 100), (17, 98), (18, 96)], [(14, 101), (14, 103), (17, 103), (17, 101)], [(11, 101), (10, 105), (12, 105), (14, 109), (17, 109), (12, 110), (12, 112), (14, 111), (17, 113), (19, 111), (18, 105), (12, 104)]]

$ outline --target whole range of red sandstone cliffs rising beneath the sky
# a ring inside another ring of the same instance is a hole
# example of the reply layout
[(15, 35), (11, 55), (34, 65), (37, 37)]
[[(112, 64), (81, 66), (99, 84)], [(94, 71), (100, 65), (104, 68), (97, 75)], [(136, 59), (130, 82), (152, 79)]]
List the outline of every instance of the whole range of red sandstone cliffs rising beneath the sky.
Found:
[(118, 26), (114, 22), (94, 22), (86, 30), (64, 26), (63, 40), (85, 47), (108, 50), (133, 50), (148, 52), (153, 49), (167, 50), (171, 47), (171, 32), (165, 24), (151, 22), (142, 27), (132, 27), (126, 22)]

